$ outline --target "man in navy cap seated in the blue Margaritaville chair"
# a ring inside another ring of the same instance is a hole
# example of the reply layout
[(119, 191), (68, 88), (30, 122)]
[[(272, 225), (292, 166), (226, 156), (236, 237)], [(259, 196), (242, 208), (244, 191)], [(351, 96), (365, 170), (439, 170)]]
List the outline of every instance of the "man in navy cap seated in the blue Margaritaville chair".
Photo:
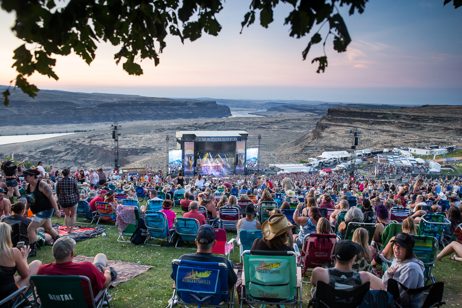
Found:
[[(215, 240), (215, 229), (208, 224), (200, 226), (197, 230), (195, 244), (197, 246), (197, 252), (195, 254), (183, 254), (178, 259), (197, 262), (225, 263), (228, 269), (229, 291), (230, 293), (234, 291), (234, 284), (237, 282), (237, 275), (233, 270), (234, 266), (232, 262), (225, 257), (212, 254), (212, 248), (217, 244), (217, 241)], [(173, 279), (173, 272), (170, 274), (170, 278)], [(175, 288), (175, 284), (173, 284), (173, 287)]]

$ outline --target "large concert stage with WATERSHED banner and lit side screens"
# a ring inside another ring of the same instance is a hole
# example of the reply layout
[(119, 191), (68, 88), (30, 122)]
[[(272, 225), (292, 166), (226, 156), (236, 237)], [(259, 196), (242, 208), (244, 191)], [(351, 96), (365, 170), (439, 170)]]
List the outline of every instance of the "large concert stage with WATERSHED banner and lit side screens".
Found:
[(244, 174), (248, 135), (246, 131), (178, 131), (176, 150), (169, 151), (169, 166), (178, 166), (181, 159), (184, 175)]

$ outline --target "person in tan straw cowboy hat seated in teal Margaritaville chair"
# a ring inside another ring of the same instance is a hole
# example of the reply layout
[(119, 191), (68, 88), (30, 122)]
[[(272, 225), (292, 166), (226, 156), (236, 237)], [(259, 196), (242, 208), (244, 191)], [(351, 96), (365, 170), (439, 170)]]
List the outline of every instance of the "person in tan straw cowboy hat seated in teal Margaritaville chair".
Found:
[(287, 231), (295, 227), (287, 222), (286, 215), (271, 215), (261, 225), (262, 238), (255, 239), (251, 250), (294, 251), (292, 247), (287, 246)]

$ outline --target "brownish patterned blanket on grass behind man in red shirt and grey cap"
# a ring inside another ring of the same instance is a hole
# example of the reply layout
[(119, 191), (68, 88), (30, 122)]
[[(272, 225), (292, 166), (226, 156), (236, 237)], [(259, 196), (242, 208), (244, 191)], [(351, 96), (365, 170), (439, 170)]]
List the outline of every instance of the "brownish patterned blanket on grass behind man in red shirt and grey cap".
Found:
[[(73, 262), (91, 262), (95, 257), (87, 257), (83, 254), (79, 254), (78, 256), (74, 256)], [(111, 281), (109, 286), (115, 287), (117, 284), (121, 282), (133, 279), (135, 276), (138, 276), (144, 272), (147, 272), (151, 267), (154, 266), (150, 265), (142, 265), (136, 262), (124, 262), (121, 260), (108, 260), (109, 266), (113, 267), (114, 270), (117, 272), (117, 278)]]

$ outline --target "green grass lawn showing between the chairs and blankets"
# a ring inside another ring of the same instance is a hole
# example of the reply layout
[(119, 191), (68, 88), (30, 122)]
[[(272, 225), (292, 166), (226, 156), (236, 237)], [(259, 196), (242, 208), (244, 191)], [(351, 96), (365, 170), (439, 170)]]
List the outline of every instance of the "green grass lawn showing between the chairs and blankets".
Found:
[[(144, 203), (143, 203), (144, 204)], [(182, 211), (179, 207), (174, 207), (176, 216), (182, 216)], [(52, 222), (64, 224), (64, 218), (52, 219)], [(79, 225), (79, 223), (76, 223)], [(96, 223), (93, 223), (93, 227)], [(109, 290), (112, 296), (111, 306), (114, 308), (136, 307), (136, 308), (165, 308), (167, 301), (172, 296), (171, 288), (173, 280), (170, 279), (171, 261), (177, 259), (182, 254), (191, 254), (195, 250), (186, 248), (195, 248), (194, 243), (179, 244), (181, 248), (174, 247), (159, 247), (151, 245), (134, 245), (132, 243), (117, 242), (119, 232), (115, 226), (105, 226), (106, 236), (97, 236), (90, 240), (77, 243), (75, 247), (75, 255), (83, 254), (86, 256), (94, 256), (98, 253), (106, 254), (109, 260), (122, 260), (126, 262), (139, 262), (140, 264), (154, 266), (146, 273), (140, 274), (124, 283), (118, 284), (115, 288)], [(228, 240), (236, 237), (236, 231), (228, 232)], [(152, 240), (151, 242), (160, 244), (162, 241)], [(239, 249), (235, 249), (235, 258), (231, 253), (233, 263), (239, 262)], [(29, 258), (28, 261), (41, 260), (43, 264), (53, 262), (51, 254), (51, 246), (45, 246), (42, 250), (37, 251), (35, 258)], [(462, 263), (451, 261), (449, 257), (443, 261), (436, 263), (434, 275), (437, 281), (444, 282), (444, 298), (443, 300), (450, 305), (459, 304), (462, 300), (461, 278), (462, 278)], [(304, 277), (304, 281), (310, 281), (310, 274)], [(303, 307), (308, 306), (310, 285), (303, 286)], [(239, 305), (236, 296), (236, 305)], [(245, 305), (244, 305), (245, 306)], [(239, 307), (239, 306), (235, 306)], [(248, 306), (245, 306), (248, 307)], [(459, 306), (460, 307), (460, 306)]]

